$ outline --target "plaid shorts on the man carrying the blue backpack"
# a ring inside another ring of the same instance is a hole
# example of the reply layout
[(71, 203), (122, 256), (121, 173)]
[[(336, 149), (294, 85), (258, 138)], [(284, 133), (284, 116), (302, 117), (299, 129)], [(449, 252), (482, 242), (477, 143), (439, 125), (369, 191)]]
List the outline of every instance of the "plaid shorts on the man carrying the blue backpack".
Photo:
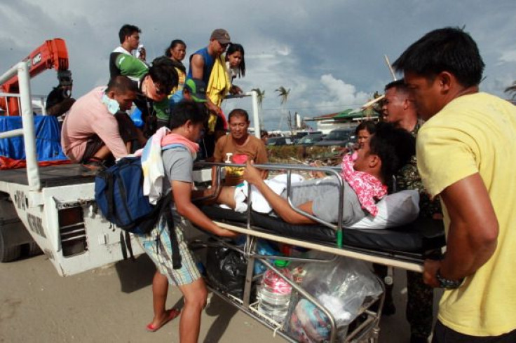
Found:
[[(175, 286), (187, 285), (201, 278), (201, 273), (196, 266), (196, 260), (184, 240), (183, 231), (188, 228), (184, 219), (175, 222), (175, 233), (181, 255), (181, 268), (172, 267), (172, 244), (166, 221), (161, 218), (156, 228), (147, 235), (135, 235), (144, 251), (149, 255), (158, 272), (167, 276), (168, 283)], [(158, 239), (159, 237), (159, 239)], [(159, 246), (156, 242), (159, 241)]]

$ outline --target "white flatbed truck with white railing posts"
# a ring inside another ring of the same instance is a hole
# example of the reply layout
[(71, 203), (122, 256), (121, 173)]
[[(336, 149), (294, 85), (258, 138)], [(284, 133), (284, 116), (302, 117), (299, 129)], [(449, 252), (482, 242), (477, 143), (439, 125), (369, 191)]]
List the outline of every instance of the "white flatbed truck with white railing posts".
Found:
[[(84, 272), (123, 259), (120, 230), (100, 214), (95, 204), (94, 177), (80, 166), (39, 167), (36, 161), (34, 119), (27, 62), (0, 76), (0, 84), (18, 74), (23, 129), (1, 132), (0, 139), (22, 135), (27, 167), (0, 170), (0, 262), (15, 260), (22, 248), (41, 248), (61, 276)], [(259, 123), (256, 92), (253, 121)], [(259, 127), (255, 134), (259, 137)], [(210, 177), (198, 173), (196, 179)], [(142, 253), (132, 237), (133, 252)]]

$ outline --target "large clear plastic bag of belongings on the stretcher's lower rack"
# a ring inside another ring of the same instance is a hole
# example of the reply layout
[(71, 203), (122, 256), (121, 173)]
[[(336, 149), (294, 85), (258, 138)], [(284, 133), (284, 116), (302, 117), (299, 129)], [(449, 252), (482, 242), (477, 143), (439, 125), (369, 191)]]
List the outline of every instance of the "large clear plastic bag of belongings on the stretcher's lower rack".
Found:
[[(301, 283), (334, 316), (338, 341), (346, 338), (348, 324), (360, 314), (366, 297), (378, 297), (381, 285), (364, 262), (339, 258), (334, 263), (308, 263)], [(330, 321), (324, 312), (297, 293), (290, 301), (285, 331), (298, 342), (330, 339)]]

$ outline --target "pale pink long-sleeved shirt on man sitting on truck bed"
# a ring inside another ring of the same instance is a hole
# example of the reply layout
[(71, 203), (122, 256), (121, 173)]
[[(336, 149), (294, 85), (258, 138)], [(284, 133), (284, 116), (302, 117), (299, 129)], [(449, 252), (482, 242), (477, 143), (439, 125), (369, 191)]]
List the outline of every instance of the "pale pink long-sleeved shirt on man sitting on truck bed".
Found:
[(82, 160), (88, 139), (97, 134), (116, 159), (128, 155), (118, 132), (116, 118), (102, 103), (106, 87), (97, 87), (79, 98), (64, 118), (61, 146), (70, 160)]

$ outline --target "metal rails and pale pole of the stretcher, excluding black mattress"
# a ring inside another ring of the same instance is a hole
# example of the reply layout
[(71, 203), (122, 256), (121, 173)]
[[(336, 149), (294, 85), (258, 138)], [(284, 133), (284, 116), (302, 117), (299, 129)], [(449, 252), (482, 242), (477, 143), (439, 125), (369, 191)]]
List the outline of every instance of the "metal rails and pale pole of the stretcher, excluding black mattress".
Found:
[[(222, 184), (222, 167), (245, 167), (245, 165), (236, 165), (236, 164), (226, 164), (226, 163), (213, 163), (213, 162), (201, 162), (200, 164), (197, 164), (201, 167), (215, 167), (215, 178), (217, 179), (217, 182), (215, 183), (215, 187), (217, 188), (216, 193), (218, 193), (219, 185)], [(344, 181), (342, 181), (339, 169), (337, 168), (331, 168), (331, 167), (308, 167), (308, 166), (299, 166), (299, 165), (255, 165), (255, 167), (259, 169), (269, 169), (269, 170), (285, 170), (287, 172), (287, 202), (290, 204), (290, 207), (294, 209), (299, 214), (302, 214), (304, 216), (307, 216), (308, 218), (311, 218), (313, 221), (316, 221), (322, 225), (327, 226), (328, 228), (331, 228), (332, 230), (336, 231), (336, 237), (337, 241), (335, 242), (334, 246), (327, 246), (325, 244), (317, 244), (310, 241), (304, 241), (302, 239), (294, 239), (290, 237), (281, 237), (279, 235), (273, 235), (268, 232), (261, 232), (257, 230), (251, 223), (251, 211), (252, 211), (252, 195), (251, 195), (251, 187), (250, 185), (247, 188), (247, 223), (245, 224), (245, 228), (242, 228), (238, 225), (231, 225), (228, 223), (223, 223), (221, 221), (215, 221), (217, 225), (219, 225), (221, 228), (225, 228), (227, 230), (231, 230), (233, 232), (238, 232), (240, 234), (245, 235), (246, 242), (243, 249), (240, 249), (232, 244), (229, 244), (228, 242), (224, 241), (224, 239), (218, 239), (219, 244), (222, 244), (224, 246), (227, 246), (229, 248), (233, 248), (236, 251), (239, 251), (240, 253), (243, 253), (247, 260), (247, 272), (245, 277), (245, 286), (244, 286), (244, 292), (243, 292), (243, 299), (238, 299), (237, 297), (234, 297), (233, 295), (229, 295), (226, 293), (223, 293), (219, 290), (217, 290), (215, 287), (212, 287), (208, 284), (208, 287), (210, 290), (212, 290), (213, 293), (219, 295), (222, 297), (222, 299), (226, 300), (226, 302), (229, 302), (230, 304), (233, 304), (233, 306), (237, 307), (241, 311), (244, 311), (249, 316), (252, 316), (255, 320), (257, 320), (259, 323), (262, 323), (263, 325), (266, 325), (267, 327), (274, 330), (274, 332), (278, 332), (279, 335), (283, 336), (285, 339), (287, 339), (290, 342), (296, 342), (291, 337), (289, 337), (285, 332), (283, 332), (281, 329), (283, 328), (283, 325), (280, 325), (280, 323), (277, 323), (273, 321), (271, 318), (265, 316), (264, 314), (260, 313), (257, 309), (257, 303), (251, 302), (251, 292), (252, 292), (252, 282), (255, 281), (259, 276), (253, 276), (254, 272), (254, 262), (256, 260), (259, 260), (262, 262), (266, 267), (269, 269), (272, 269), (276, 274), (280, 275), (287, 283), (290, 283), (292, 288), (296, 290), (301, 296), (305, 297), (308, 301), (312, 302), (318, 309), (320, 309), (323, 313), (326, 314), (327, 318), (330, 320), (331, 325), (331, 335), (330, 335), (330, 341), (329, 342), (336, 342), (335, 339), (337, 339), (337, 328), (335, 325), (334, 317), (328, 311), (318, 300), (316, 300), (314, 297), (312, 297), (309, 293), (306, 292), (306, 290), (302, 289), (299, 285), (294, 283), (293, 281), (290, 281), (290, 279), (287, 279), (283, 274), (279, 272), (276, 267), (271, 265), (269, 260), (274, 258), (280, 258), (283, 260), (306, 260), (306, 259), (299, 259), (299, 258), (287, 258), (285, 256), (273, 256), (273, 255), (260, 255), (256, 253), (256, 243), (257, 239), (266, 239), (269, 241), (276, 241), (278, 243), (283, 244), (290, 244), (293, 246), (300, 246), (303, 248), (313, 249), (315, 251), (322, 251), (324, 253), (330, 253), (337, 256), (345, 256), (348, 258), (355, 258), (358, 260), (363, 260), (365, 262), (372, 262), (372, 263), (379, 263), (382, 265), (387, 265), (390, 269), (389, 273), (392, 273), (392, 268), (402, 268), (411, 270), (414, 272), (423, 272), (423, 263), (422, 261), (419, 262), (412, 262), (407, 260), (399, 260), (396, 258), (393, 258), (392, 256), (381, 256), (381, 255), (371, 255), (370, 253), (366, 253), (365, 251), (358, 251), (355, 249), (350, 248), (343, 248), (342, 244), (342, 204), (344, 203)], [(292, 171), (294, 170), (304, 170), (307, 172), (325, 172), (326, 174), (330, 174), (337, 177), (337, 181), (339, 183), (339, 213), (338, 218), (339, 221), (337, 225), (332, 223), (326, 223), (325, 221), (320, 220), (320, 218), (316, 218), (314, 216), (311, 216), (310, 214), (307, 214), (304, 211), (301, 211), (300, 209), (297, 209), (292, 204)], [(215, 238), (217, 239), (217, 238)], [(199, 244), (199, 242), (194, 242), (194, 246), (196, 244)], [(310, 259), (311, 262), (328, 262), (327, 260), (318, 260), (314, 261)], [(384, 284), (383, 282), (380, 282), (383, 290)], [(357, 328), (355, 328), (353, 331), (348, 332), (346, 336), (345, 342), (377, 342), (377, 339), (379, 337), (379, 321), (381, 318), (381, 311), (383, 309), (383, 302), (384, 302), (385, 294), (384, 292), (382, 295), (375, 300), (374, 302), (367, 304), (363, 309), (362, 312), (359, 314), (359, 316), (365, 316), (365, 320), (358, 325)], [(378, 307), (376, 309), (372, 309), (372, 304), (378, 303)]]

